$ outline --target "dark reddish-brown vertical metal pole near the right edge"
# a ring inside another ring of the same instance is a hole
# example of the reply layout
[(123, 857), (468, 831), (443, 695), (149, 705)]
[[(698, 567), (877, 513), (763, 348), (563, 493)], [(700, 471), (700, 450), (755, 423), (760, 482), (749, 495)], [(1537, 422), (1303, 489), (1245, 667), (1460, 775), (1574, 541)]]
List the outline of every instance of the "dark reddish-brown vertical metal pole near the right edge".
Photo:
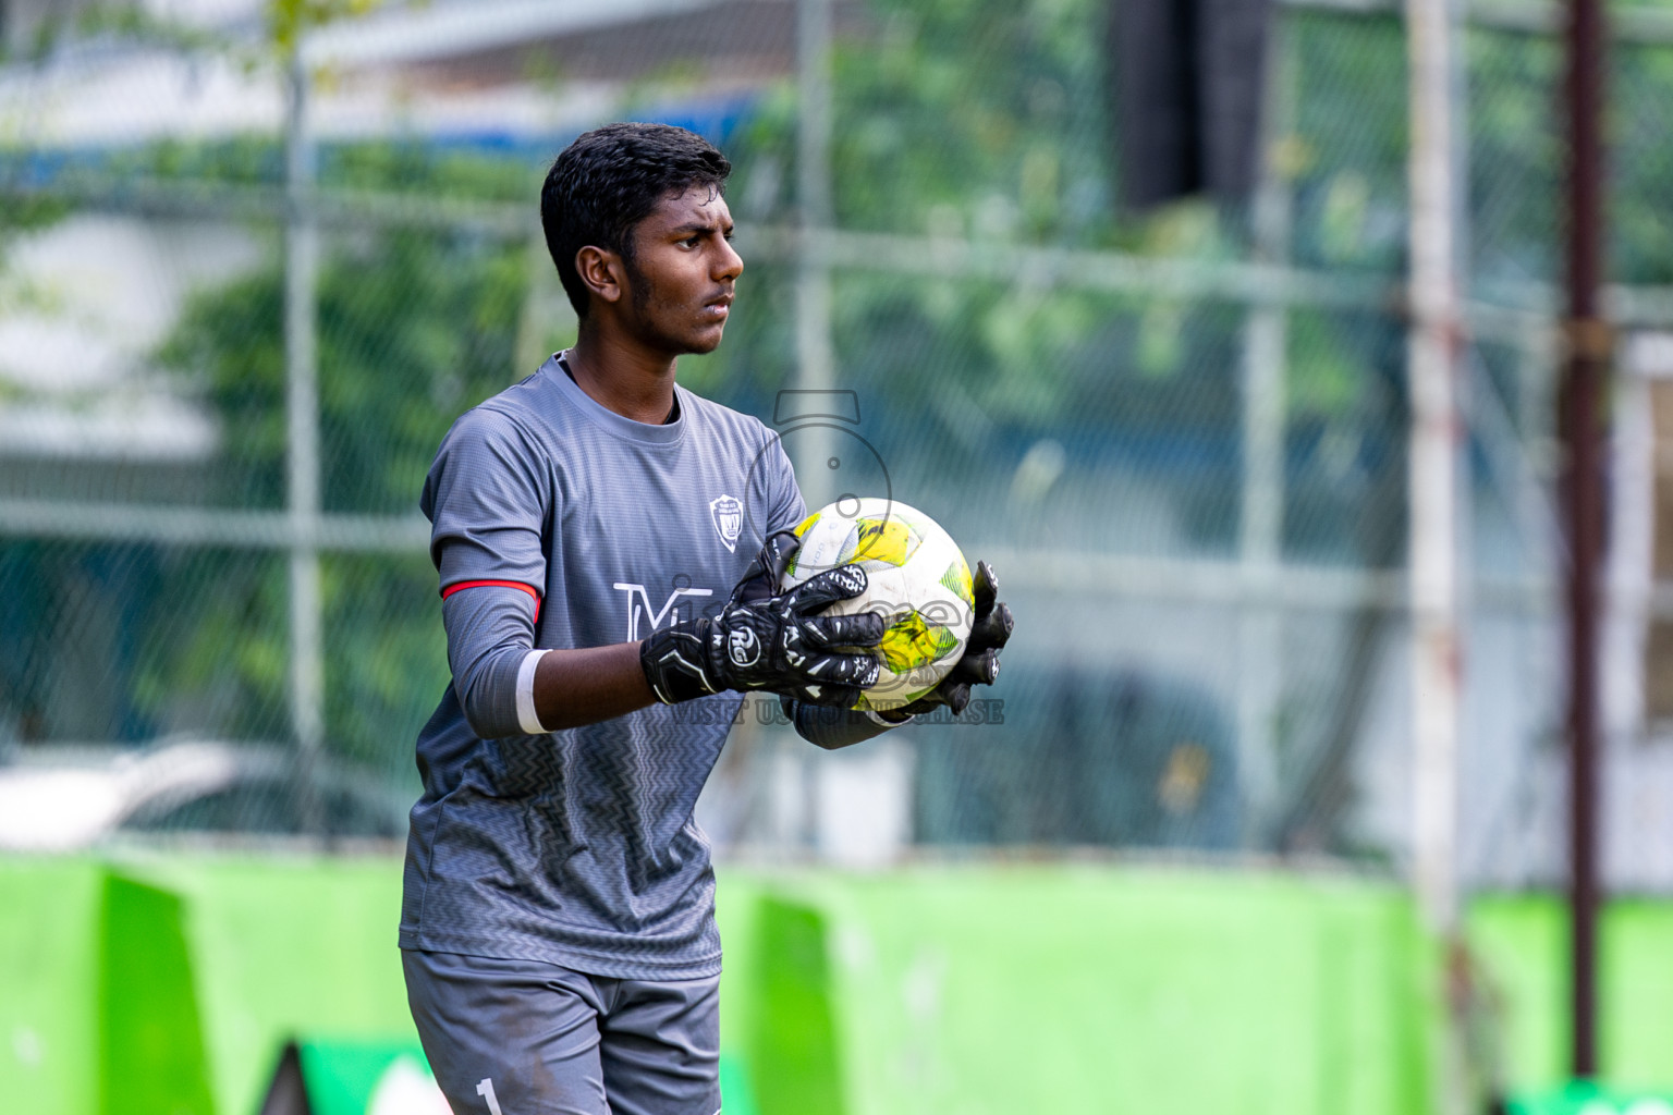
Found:
[(1603, 0), (1569, 0), (1568, 321), (1563, 378), (1569, 532), (1571, 1068), (1598, 1075), (1598, 570), (1603, 558), (1603, 393), (1611, 334), (1603, 288)]

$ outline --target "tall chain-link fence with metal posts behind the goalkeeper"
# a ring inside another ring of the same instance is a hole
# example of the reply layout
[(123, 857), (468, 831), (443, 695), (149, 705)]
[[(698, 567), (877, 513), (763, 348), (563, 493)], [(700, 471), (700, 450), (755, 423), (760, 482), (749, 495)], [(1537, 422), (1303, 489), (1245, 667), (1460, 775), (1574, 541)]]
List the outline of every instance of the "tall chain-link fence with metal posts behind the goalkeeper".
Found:
[[(69, 27), (0, 74), (7, 754), (207, 741), (181, 762), (224, 762), (132, 824), (391, 834), (448, 680), (422, 476), (462, 410), (572, 338), (545, 162), (651, 117), (729, 154), (748, 262), (681, 381), (786, 443), (783, 389), (852, 391), (847, 435), (1019, 617), (980, 722), (828, 756), (746, 717), (699, 811), (723, 849), (1405, 859), (1394, 8), (1276, 10), (1251, 196), (1133, 214), (1106, 3), (581, 5), (497, 30), (480, 5), (448, 33), (465, 7), (333, 25), (294, 72), (253, 8)], [(1613, 306), (1653, 328), (1673, 35), (1621, 28), (1613, 274), (1641, 286)], [(1561, 868), (1559, 48), (1539, 5), (1479, 12), (1464, 43), (1459, 863), (1526, 883)], [(798, 468), (816, 505), (831, 478)], [(1666, 744), (1618, 705), (1616, 772), (1673, 816), (1645, 776)], [(239, 767), (258, 754), (294, 762)]]

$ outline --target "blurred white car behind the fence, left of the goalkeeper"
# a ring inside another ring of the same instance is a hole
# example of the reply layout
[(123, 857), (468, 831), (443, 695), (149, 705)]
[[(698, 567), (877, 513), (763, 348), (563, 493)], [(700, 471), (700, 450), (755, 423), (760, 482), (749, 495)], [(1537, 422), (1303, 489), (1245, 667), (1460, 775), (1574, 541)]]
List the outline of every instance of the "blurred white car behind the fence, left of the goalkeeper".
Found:
[(0, 849), (74, 851), (156, 832), (400, 839), (412, 796), (338, 762), (304, 792), (294, 751), (167, 742), (38, 746), (0, 764)]

